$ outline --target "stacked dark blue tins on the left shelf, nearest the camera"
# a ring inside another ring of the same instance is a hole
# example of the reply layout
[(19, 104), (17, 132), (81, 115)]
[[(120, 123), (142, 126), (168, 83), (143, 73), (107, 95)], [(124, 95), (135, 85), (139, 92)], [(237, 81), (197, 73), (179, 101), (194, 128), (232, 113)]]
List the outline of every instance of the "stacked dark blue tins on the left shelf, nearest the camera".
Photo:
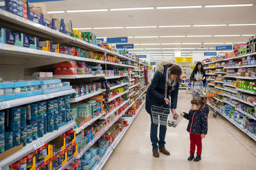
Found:
[(0, 111), (1, 152), (42, 138), (72, 120), (70, 97), (58, 97)]

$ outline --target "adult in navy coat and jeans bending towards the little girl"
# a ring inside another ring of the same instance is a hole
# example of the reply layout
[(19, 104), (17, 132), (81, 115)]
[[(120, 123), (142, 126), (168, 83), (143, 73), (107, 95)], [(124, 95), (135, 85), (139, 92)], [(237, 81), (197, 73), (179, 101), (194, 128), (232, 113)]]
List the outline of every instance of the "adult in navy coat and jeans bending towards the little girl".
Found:
[[(156, 105), (168, 108), (171, 105), (172, 114), (178, 116), (175, 109), (177, 106), (177, 95), (182, 70), (179, 65), (174, 65), (171, 61), (160, 61), (156, 64), (156, 70), (154, 78), (147, 90), (146, 111), (150, 114), (151, 118), (150, 139), (153, 147), (153, 156), (159, 158), (159, 151), (165, 155), (170, 155), (170, 152), (164, 147), (166, 144), (164, 141), (166, 137), (166, 126), (160, 125), (158, 140), (158, 124), (153, 123), (151, 106)], [(171, 101), (169, 98), (170, 95)]]

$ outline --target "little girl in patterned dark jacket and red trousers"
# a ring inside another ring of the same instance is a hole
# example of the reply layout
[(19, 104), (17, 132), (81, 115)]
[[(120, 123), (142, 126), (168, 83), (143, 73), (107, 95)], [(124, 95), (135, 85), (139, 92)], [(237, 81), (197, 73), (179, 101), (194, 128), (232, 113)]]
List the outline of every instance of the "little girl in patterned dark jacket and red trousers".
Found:
[(195, 98), (191, 100), (192, 110), (189, 113), (181, 113), (181, 116), (189, 120), (187, 131), (190, 135), (190, 156), (188, 160), (193, 160), (197, 146), (195, 162), (201, 160), (202, 138), (207, 134), (207, 117), (209, 109), (205, 108), (206, 100)]

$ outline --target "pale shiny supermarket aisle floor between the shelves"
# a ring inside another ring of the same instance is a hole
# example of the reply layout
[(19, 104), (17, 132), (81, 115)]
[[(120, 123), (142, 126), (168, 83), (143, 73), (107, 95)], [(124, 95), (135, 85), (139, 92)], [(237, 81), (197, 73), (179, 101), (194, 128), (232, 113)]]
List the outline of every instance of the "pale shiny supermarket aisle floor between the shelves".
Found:
[[(177, 111), (191, 108), (191, 95), (180, 90)], [(218, 114), (208, 118), (208, 134), (203, 139), (200, 162), (188, 162), (188, 120), (176, 128), (167, 126), (166, 148), (171, 156), (152, 156), (150, 116), (144, 106), (102, 169), (256, 169), (256, 142)]]

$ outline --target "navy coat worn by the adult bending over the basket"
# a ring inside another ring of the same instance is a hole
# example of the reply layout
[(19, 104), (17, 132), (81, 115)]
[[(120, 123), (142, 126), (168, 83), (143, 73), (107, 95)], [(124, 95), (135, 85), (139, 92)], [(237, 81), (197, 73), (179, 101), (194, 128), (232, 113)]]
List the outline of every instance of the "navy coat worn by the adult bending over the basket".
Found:
[[(167, 108), (168, 105), (164, 101), (164, 88), (166, 85), (166, 71), (168, 66), (163, 66), (163, 73), (156, 71), (154, 78), (148, 87), (146, 95), (146, 111), (151, 114), (151, 106), (157, 105), (159, 107)], [(177, 107), (177, 95), (179, 92), (179, 82), (175, 86), (175, 90), (171, 91), (171, 87), (167, 87), (167, 98), (171, 95), (171, 108), (176, 109)], [(170, 100), (170, 99), (169, 99)]]

